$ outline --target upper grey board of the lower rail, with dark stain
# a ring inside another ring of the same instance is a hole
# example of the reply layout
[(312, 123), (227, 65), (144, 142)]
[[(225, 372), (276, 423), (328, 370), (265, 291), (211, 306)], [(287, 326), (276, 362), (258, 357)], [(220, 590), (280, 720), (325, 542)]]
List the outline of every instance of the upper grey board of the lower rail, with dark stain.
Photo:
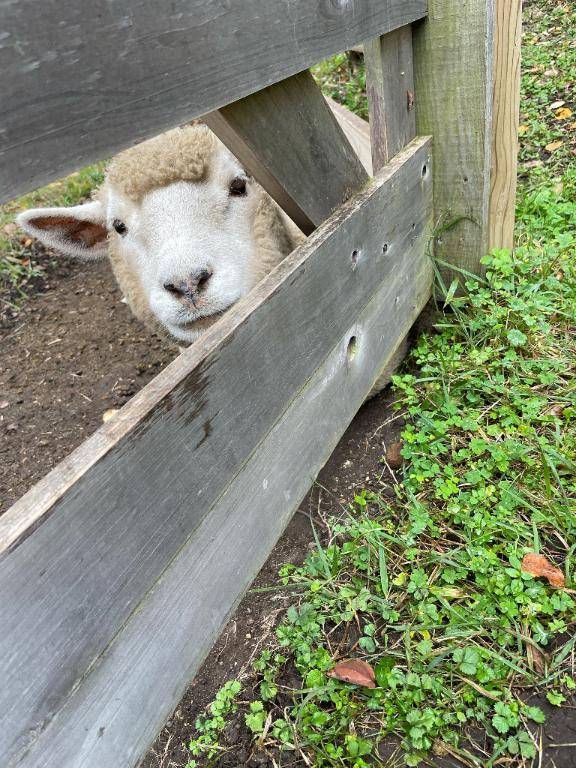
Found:
[(2, 764), (57, 721), (360, 308), (425, 248), (429, 151), (413, 142), (2, 517)]

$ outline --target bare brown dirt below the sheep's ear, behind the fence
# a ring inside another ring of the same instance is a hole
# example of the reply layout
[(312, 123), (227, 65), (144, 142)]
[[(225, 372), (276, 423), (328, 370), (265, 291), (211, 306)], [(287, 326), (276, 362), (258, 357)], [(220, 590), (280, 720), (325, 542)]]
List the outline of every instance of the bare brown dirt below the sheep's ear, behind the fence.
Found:
[(107, 261), (52, 259), (0, 340), (0, 514), (175, 356), (121, 302)]

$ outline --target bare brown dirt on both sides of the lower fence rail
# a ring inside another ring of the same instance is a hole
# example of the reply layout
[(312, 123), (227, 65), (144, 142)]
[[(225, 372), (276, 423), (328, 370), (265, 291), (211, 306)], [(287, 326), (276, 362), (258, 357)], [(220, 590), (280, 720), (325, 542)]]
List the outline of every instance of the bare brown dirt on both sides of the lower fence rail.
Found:
[[(47, 269), (36, 281), (36, 294), (18, 314), (5, 312), (0, 318), (0, 513), (95, 431), (107, 410), (123, 405), (174, 356), (131, 317), (107, 263), (79, 265), (42, 251), (37, 259)], [(401, 428), (390, 404), (385, 392), (359, 412), (256, 588), (273, 583), (282, 563), (304, 558), (313, 538), (311, 517), (321, 533), (322, 518), (338, 514), (355, 488), (392, 493), (394, 478), (380, 462)], [(141, 768), (184, 768), (196, 716), (225, 681), (242, 675), (248, 686), (256, 682), (249, 662), (270, 637), (288, 599), (281, 591), (252, 591), (245, 597)], [(576, 749), (560, 746), (576, 742), (576, 707), (540, 705), (548, 712), (545, 743), (559, 745), (546, 747), (541, 765), (576, 768)], [(218, 762), (222, 768), (274, 765), (273, 756), (254, 747), (241, 718), (225, 740), (230, 750)], [(389, 745), (390, 754), (395, 748)], [(447, 757), (435, 765), (462, 764)]]

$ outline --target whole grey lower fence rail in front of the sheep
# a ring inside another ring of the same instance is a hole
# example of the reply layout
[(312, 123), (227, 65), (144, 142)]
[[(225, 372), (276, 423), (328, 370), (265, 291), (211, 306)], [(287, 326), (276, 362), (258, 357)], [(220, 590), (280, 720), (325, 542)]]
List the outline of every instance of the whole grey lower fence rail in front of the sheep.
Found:
[(137, 763), (430, 295), (430, 149), (0, 519), (2, 766)]

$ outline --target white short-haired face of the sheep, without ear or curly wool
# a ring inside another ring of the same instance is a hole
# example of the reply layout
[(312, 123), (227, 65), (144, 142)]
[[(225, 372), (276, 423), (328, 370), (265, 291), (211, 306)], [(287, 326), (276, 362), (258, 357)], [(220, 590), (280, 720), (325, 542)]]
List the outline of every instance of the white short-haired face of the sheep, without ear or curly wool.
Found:
[(107, 191), (116, 274), (122, 283), (128, 267), (156, 320), (179, 343), (193, 341), (251, 288), (260, 193), (227, 152), (214, 160), (206, 179), (174, 182), (137, 203), (113, 186)]

